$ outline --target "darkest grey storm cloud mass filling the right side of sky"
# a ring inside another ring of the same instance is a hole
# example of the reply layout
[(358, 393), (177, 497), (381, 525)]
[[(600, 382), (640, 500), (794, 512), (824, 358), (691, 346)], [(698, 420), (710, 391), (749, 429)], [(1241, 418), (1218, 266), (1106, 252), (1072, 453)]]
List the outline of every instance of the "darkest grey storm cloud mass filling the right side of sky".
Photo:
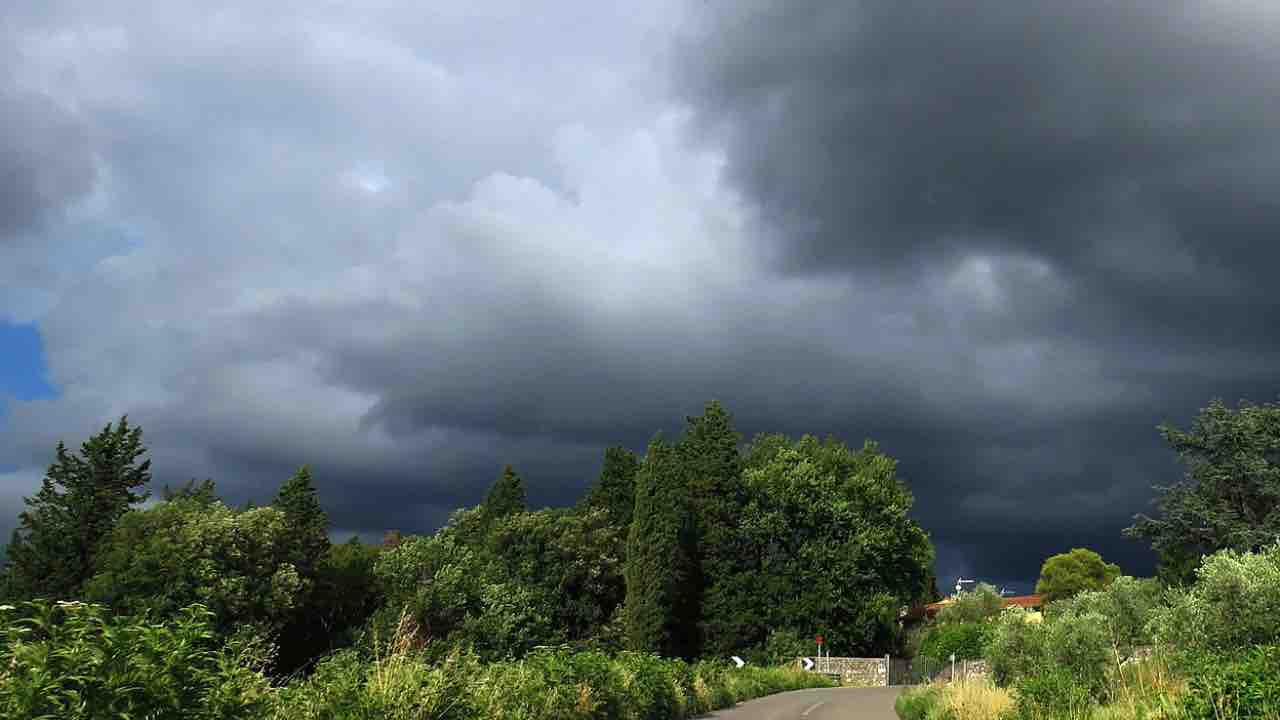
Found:
[[(1155, 424), (1280, 389), (1274, 10), (700, 8), (677, 77), (769, 225), (777, 273), (892, 277), (911, 296), (965, 258), (1032, 259), (1056, 284), (988, 273), (1002, 297), (952, 315), (969, 351), (1073, 348), (1112, 384), (1079, 411), (972, 404), (966, 427), (937, 428), (948, 437), (887, 443), (950, 546), (941, 562), (968, 553), (968, 571), (1033, 577), (1046, 552), (1092, 544), (1148, 569), (1117, 536), (1179, 471)], [(1056, 382), (1043, 379), (1006, 400), (1039, 405)]]

